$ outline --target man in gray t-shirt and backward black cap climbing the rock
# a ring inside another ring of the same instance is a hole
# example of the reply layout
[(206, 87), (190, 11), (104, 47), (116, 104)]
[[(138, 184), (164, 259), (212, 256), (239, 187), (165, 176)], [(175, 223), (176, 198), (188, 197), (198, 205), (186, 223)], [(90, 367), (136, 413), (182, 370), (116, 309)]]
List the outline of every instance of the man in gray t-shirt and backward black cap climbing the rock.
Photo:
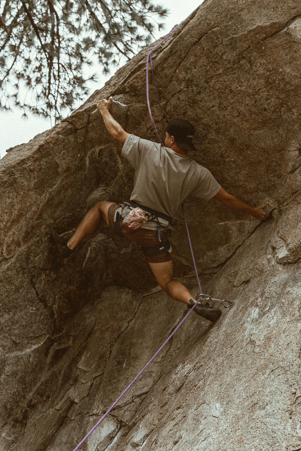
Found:
[[(269, 216), (264, 211), (268, 204), (254, 208), (241, 202), (228, 194), (209, 170), (187, 155), (188, 151), (196, 150), (192, 143), (194, 128), (189, 122), (172, 120), (167, 126), (165, 147), (162, 147), (123, 130), (109, 113), (111, 103), (112, 97), (109, 100), (103, 99), (97, 108), (108, 132), (123, 144), (121, 155), (135, 169), (130, 203), (97, 202), (84, 216), (70, 239), (67, 240), (56, 232), (53, 237), (63, 246), (65, 253), (72, 253), (77, 250), (82, 239), (96, 230), (102, 217), (111, 230), (141, 245), (162, 290), (191, 308), (196, 299), (182, 283), (173, 279), (168, 238), (172, 217), (178, 207), (192, 194), (205, 200), (215, 198), (237, 212), (265, 219)], [(194, 311), (211, 322), (215, 322), (221, 314), (219, 308), (212, 308), (207, 304), (197, 304)]]

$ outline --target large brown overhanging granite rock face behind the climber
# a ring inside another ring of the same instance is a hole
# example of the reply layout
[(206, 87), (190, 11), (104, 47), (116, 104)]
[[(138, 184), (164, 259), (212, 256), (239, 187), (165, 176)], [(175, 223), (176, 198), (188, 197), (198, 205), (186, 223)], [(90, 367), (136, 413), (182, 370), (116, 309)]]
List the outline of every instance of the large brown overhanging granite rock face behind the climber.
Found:
[[(300, 44), (300, 1), (207, 0), (153, 54), (167, 120), (196, 126), (196, 161), (270, 217), (187, 200), (203, 290), (235, 306), (213, 326), (190, 315), (82, 450), (301, 449)], [(95, 108), (113, 95), (123, 127), (155, 140), (148, 51), (0, 162), (1, 451), (72, 450), (186, 313), (105, 225), (69, 259), (50, 240), (97, 200), (129, 198), (132, 168)], [(175, 222), (175, 276), (193, 288)]]

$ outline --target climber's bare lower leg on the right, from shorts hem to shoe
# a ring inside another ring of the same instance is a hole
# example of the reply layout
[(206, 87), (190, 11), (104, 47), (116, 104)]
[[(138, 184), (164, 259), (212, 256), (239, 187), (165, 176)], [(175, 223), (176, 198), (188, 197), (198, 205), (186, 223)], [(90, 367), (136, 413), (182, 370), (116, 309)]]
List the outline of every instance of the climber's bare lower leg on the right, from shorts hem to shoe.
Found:
[(187, 290), (187, 288), (179, 281), (173, 279), (173, 262), (148, 263), (156, 278), (156, 281), (170, 297), (184, 304), (190, 305), (189, 299), (196, 302)]

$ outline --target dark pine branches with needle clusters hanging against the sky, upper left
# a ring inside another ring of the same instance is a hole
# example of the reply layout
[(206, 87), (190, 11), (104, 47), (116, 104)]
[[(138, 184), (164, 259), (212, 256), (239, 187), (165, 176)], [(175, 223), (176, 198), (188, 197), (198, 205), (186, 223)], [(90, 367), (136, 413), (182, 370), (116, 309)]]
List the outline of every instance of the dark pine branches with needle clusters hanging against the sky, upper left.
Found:
[(60, 120), (96, 79), (83, 69), (132, 58), (166, 15), (152, 0), (1, 0), (0, 108)]

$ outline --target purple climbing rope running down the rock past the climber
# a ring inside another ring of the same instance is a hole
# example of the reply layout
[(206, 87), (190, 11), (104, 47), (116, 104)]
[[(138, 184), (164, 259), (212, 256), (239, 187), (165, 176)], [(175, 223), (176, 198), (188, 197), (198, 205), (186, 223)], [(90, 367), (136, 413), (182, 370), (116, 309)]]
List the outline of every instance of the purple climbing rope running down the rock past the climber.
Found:
[[(153, 81), (154, 81), (154, 86), (155, 86), (156, 97), (157, 97), (158, 105), (159, 105), (159, 108), (160, 108), (161, 119), (162, 119), (162, 122), (163, 122), (163, 124), (164, 124), (164, 129), (165, 129), (164, 115), (163, 115), (163, 111), (162, 111), (161, 104), (160, 104), (160, 98), (159, 98), (159, 93), (158, 93), (157, 85), (156, 85), (156, 82), (155, 82), (155, 74), (154, 74), (154, 68), (153, 68), (153, 63), (152, 63), (152, 59), (151, 59), (151, 52), (153, 52), (155, 49), (157, 49), (157, 48), (162, 44), (162, 42), (164, 42), (164, 41), (165, 41), (165, 40), (166, 40), (166, 39), (167, 39), (174, 31), (176, 31), (177, 28), (179, 28), (179, 26), (180, 26), (181, 24), (182, 24), (182, 22), (181, 22), (176, 28), (174, 28), (174, 29), (173, 29), (166, 37), (164, 37), (164, 39), (163, 39), (162, 41), (160, 41), (159, 44), (157, 44), (157, 45), (149, 52), (149, 54), (147, 55), (147, 60), (146, 60), (146, 98), (147, 98), (147, 106), (148, 106), (148, 110), (149, 110), (149, 113), (150, 113), (150, 120), (151, 120), (151, 123), (153, 124), (153, 127), (154, 127), (154, 129), (155, 129), (155, 133), (156, 133), (156, 135), (157, 135), (157, 137), (158, 137), (158, 139), (159, 139), (159, 141), (160, 141), (160, 143), (161, 143), (162, 145), (163, 145), (163, 143), (162, 143), (162, 141), (161, 141), (161, 139), (160, 139), (158, 130), (156, 129), (155, 122), (154, 122), (154, 120), (153, 120), (153, 116), (152, 116), (151, 110), (150, 110), (149, 80), (148, 80), (148, 69), (149, 69), (149, 64), (148, 64), (148, 62), (149, 62), (149, 60), (150, 60), (150, 67), (151, 67), (151, 73), (152, 73), (152, 76), (153, 76)], [(195, 269), (195, 272), (196, 272), (196, 279), (197, 279), (197, 281), (198, 281), (199, 288), (200, 288), (200, 297), (199, 297), (199, 299), (197, 299), (196, 303), (192, 306), (192, 308), (191, 308), (191, 309), (189, 310), (189, 312), (185, 315), (185, 317), (182, 319), (182, 321), (178, 324), (178, 326), (174, 329), (174, 331), (169, 335), (169, 337), (167, 338), (167, 340), (164, 341), (164, 343), (163, 343), (163, 345), (160, 347), (160, 349), (157, 350), (157, 352), (152, 356), (152, 358), (150, 359), (150, 361), (145, 365), (144, 368), (141, 369), (140, 373), (137, 374), (137, 376), (135, 377), (135, 379), (132, 380), (132, 382), (128, 385), (128, 387), (121, 393), (121, 395), (120, 395), (120, 396), (117, 398), (117, 400), (111, 405), (111, 407), (105, 412), (105, 414), (103, 414), (103, 416), (102, 416), (102, 417), (100, 418), (100, 420), (96, 423), (96, 425), (93, 426), (93, 428), (91, 429), (91, 431), (89, 431), (89, 432), (87, 433), (86, 437), (84, 437), (84, 438), (82, 439), (82, 441), (81, 441), (80, 443), (78, 443), (78, 446), (76, 446), (76, 447), (74, 448), (73, 451), (77, 451), (77, 450), (80, 448), (80, 446), (82, 446), (82, 444), (87, 440), (87, 438), (91, 435), (91, 433), (92, 433), (93, 431), (95, 431), (95, 429), (100, 425), (100, 423), (102, 422), (102, 420), (105, 419), (105, 417), (109, 414), (109, 412), (110, 412), (112, 409), (114, 409), (114, 407), (115, 407), (115, 405), (118, 403), (118, 401), (126, 394), (126, 392), (128, 391), (128, 389), (131, 388), (132, 385), (137, 381), (138, 377), (140, 377), (141, 374), (146, 370), (146, 368), (151, 364), (151, 362), (155, 359), (155, 357), (156, 357), (156, 356), (160, 353), (160, 351), (164, 348), (164, 346), (166, 345), (166, 343), (169, 342), (169, 340), (172, 338), (172, 336), (175, 334), (175, 332), (179, 329), (179, 327), (182, 326), (183, 322), (186, 320), (186, 318), (188, 317), (188, 315), (190, 315), (190, 313), (192, 313), (192, 310), (196, 307), (196, 304), (198, 304), (198, 302), (199, 302), (200, 299), (201, 299), (201, 293), (202, 293), (201, 283), (200, 283), (200, 279), (199, 279), (199, 276), (198, 276), (198, 273), (197, 273), (197, 269), (196, 269), (196, 260), (195, 260), (195, 258), (194, 258), (194, 254), (193, 254), (193, 250), (192, 250), (192, 244), (191, 244), (191, 239), (190, 239), (190, 235), (189, 235), (189, 231), (188, 231), (188, 226), (187, 226), (187, 221), (186, 221), (185, 211), (184, 211), (184, 208), (183, 208), (183, 207), (182, 207), (182, 209), (183, 209), (183, 214), (184, 214), (184, 221), (185, 221), (185, 226), (186, 226), (186, 231), (187, 231), (187, 236), (188, 236), (189, 246), (190, 246), (190, 250), (191, 250), (191, 253), (192, 253), (193, 265), (194, 265), (194, 269)]]

